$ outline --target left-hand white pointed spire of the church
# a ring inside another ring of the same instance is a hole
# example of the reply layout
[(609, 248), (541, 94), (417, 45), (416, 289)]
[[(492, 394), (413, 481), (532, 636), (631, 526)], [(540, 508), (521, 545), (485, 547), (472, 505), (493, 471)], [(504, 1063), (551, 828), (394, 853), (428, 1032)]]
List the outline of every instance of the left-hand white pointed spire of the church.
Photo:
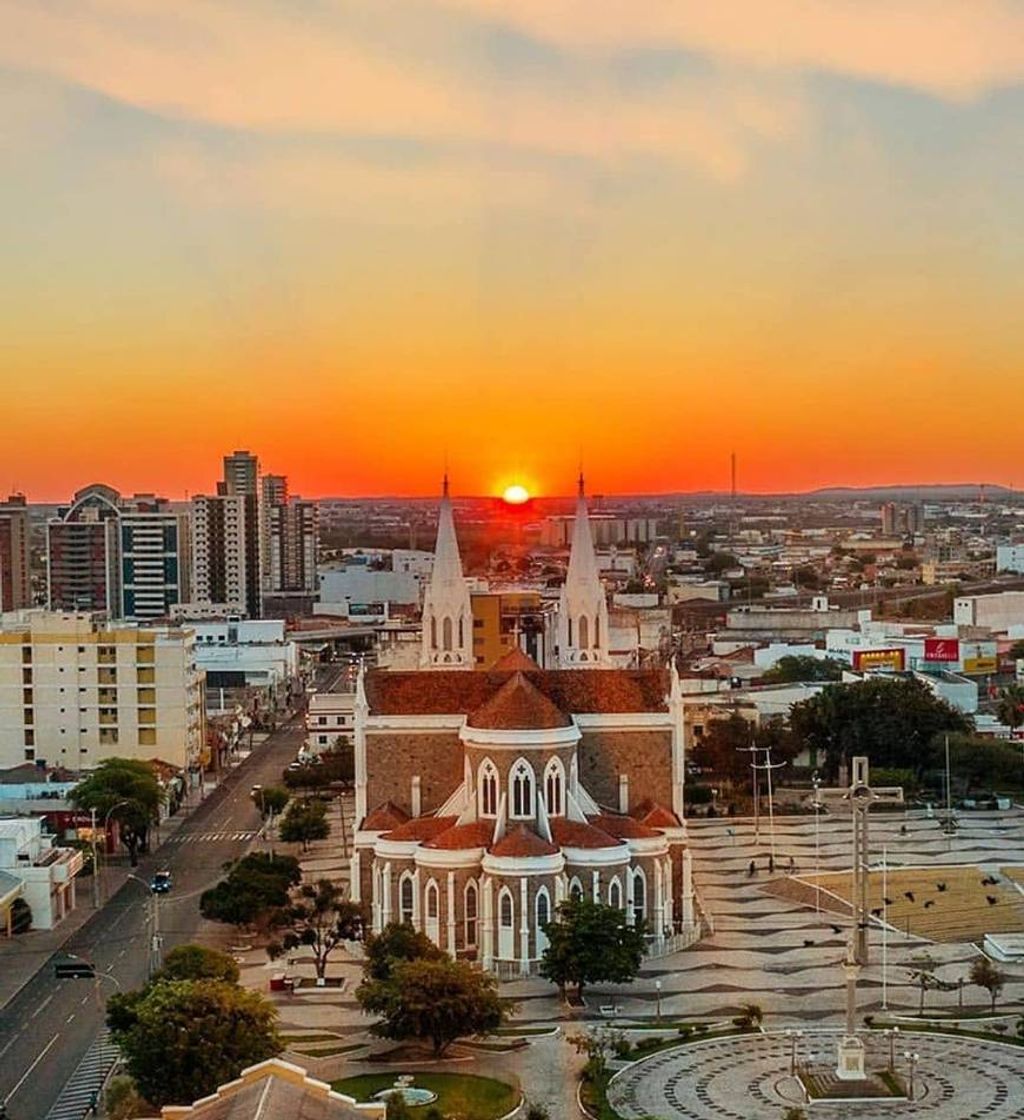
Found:
[(473, 668), (473, 608), (455, 535), (447, 470), (437, 519), (434, 568), (423, 596), (420, 668)]

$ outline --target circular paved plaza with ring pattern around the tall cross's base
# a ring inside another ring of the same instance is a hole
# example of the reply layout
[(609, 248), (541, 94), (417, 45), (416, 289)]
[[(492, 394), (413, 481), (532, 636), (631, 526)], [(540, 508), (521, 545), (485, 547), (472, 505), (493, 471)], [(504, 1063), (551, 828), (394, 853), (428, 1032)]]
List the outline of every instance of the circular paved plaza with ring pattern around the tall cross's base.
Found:
[[(868, 1068), (884, 1068), (885, 1037), (862, 1037)], [(800, 1060), (811, 1063), (813, 1055), (811, 1067), (826, 1072), (835, 1064), (837, 1039), (836, 1034), (804, 1035)], [(904, 1080), (902, 1052), (920, 1056), (913, 1101), (818, 1101), (808, 1108), (790, 1075), (792, 1042), (779, 1034), (711, 1039), (655, 1054), (618, 1074), (608, 1098), (627, 1120), (779, 1120), (788, 1105), (807, 1108), (811, 1120), (1024, 1120), (1024, 1048), (948, 1035), (905, 1035), (900, 1043), (896, 1068)]]

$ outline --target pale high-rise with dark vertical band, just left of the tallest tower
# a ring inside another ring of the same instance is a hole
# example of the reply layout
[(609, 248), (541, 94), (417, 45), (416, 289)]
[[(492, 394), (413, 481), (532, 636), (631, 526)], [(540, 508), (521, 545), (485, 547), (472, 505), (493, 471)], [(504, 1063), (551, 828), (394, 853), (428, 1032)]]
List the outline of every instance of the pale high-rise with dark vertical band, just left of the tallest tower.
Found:
[[(251, 503), (250, 503), (251, 504)], [(252, 597), (244, 494), (197, 494), (192, 500), (192, 597), (224, 614), (244, 615)]]

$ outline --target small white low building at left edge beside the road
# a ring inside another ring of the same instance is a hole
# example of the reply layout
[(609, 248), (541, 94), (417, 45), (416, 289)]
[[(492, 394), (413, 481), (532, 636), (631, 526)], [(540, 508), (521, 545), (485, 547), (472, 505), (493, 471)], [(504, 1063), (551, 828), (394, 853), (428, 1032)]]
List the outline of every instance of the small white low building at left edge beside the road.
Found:
[[(82, 870), (82, 852), (55, 848), (43, 833), (37, 816), (0, 819), (0, 926), (10, 932), (10, 907), (24, 898), (32, 912), (36, 930), (52, 930), (75, 908), (75, 876)], [(11, 887), (9, 879), (20, 884)], [(7, 889), (4, 889), (4, 885)], [(3, 898), (10, 897), (4, 911)]]

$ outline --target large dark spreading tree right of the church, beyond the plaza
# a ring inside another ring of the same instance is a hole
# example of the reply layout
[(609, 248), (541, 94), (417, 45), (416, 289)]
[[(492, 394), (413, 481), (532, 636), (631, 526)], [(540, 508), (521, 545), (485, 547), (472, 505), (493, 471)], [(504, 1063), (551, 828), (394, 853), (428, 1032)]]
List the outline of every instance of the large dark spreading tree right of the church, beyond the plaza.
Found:
[(972, 724), (916, 679), (868, 678), (827, 684), (794, 704), (790, 728), (817, 757), (826, 777), (835, 778), (840, 765), (856, 755), (866, 755), (875, 766), (911, 768), (920, 776), (934, 758), (934, 737), (970, 731)]

